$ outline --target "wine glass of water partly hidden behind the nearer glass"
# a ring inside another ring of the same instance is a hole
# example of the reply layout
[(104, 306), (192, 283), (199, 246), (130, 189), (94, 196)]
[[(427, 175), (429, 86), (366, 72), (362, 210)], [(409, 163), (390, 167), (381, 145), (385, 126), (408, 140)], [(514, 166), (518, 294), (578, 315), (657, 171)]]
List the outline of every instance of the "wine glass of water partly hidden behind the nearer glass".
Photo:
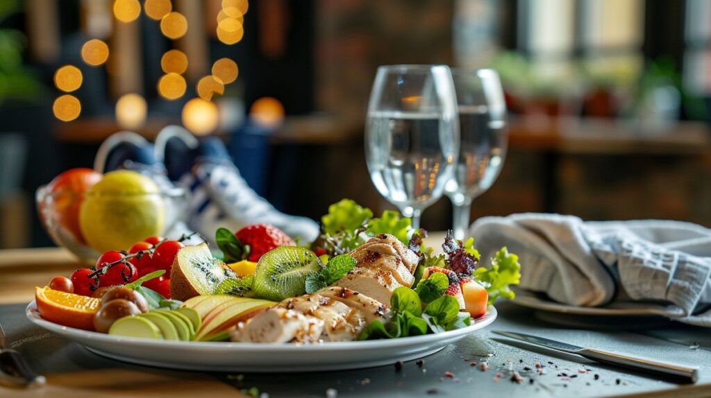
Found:
[(454, 238), (464, 241), (471, 201), (496, 181), (506, 158), (506, 102), (496, 71), (452, 70), (459, 105), (459, 160), (445, 186), (454, 206)]

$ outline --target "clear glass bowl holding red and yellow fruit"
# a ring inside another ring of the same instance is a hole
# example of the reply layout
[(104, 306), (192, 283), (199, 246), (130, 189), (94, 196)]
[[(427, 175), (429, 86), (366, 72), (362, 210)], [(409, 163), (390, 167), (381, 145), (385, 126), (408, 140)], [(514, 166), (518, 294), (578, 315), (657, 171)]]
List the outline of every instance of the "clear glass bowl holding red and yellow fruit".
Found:
[(184, 221), (188, 192), (171, 188), (146, 193), (36, 192), (37, 210), (54, 243), (94, 264), (107, 250), (129, 250), (149, 236), (171, 235)]

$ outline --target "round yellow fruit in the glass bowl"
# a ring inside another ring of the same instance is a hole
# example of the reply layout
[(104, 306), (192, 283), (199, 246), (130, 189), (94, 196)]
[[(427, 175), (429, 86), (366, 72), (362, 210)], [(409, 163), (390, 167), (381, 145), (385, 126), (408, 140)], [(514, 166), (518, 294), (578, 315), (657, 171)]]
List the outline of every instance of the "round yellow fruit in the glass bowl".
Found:
[(79, 212), (82, 235), (99, 252), (127, 250), (146, 236), (159, 235), (164, 221), (160, 189), (149, 177), (130, 170), (106, 173)]

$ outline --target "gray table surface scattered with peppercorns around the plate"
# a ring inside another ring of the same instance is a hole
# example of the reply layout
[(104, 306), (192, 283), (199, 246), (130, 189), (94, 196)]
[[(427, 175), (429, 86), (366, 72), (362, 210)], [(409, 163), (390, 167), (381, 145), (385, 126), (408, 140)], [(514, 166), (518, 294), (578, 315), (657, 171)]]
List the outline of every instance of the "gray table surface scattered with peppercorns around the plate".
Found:
[[(31, 324), (24, 315), (24, 307), (21, 304), (0, 306), (0, 324), (11, 345), (24, 353), (38, 372), (50, 374), (116, 367), (164, 372), (90, 353), (77, 343)], [(592, 325), (576, 329), (550, 323), (550, 314), (548, 321), (543, 321), (531, 310), (513, 304), (499, 304), (497, 308), (499, 318), (492, 326), (424, 358), (422, 366), (410, 361), (400, 371), (393, 364), (338, 372), (214, 376), (232, 385), (257, 387), (269, 397), (326, 397), (328, 389), (335, 389), (338, 397), (711, 396), (711, 333), (708, 329), (650, 319), (594, 319)], [(566, 317), (565, 321), (579, 320)], [(591, 326), (597, 331), (590, 331)], [(698, 366), (700, 380), (696, 385), (675, 385), (592, 363), (575, 355), (533, 348), (523, 343), (512, 345), (510, 340), (496, 337), (491, 330), (522, 331), (581, 346)], [(491, 358), (479, 356), (487, 345), (496, 352)], [(471, 365), (472, 361), (477, 365)], [(481, 370), (482, 362), (488, 364), (488, 370)], [(537, 362), (542, 366), (542, 375), (536, 372)], [(523, 380), (510, 380), (512, 372)]]

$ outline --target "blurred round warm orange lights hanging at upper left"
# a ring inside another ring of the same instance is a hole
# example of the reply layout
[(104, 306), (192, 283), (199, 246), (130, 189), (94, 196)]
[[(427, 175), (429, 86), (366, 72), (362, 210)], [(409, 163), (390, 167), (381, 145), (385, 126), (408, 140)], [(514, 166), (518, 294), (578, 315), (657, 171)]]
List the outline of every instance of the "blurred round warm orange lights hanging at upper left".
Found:
[[(244, 16), (248, 9), (247, 0), (222, 1), (215, 31), (220, 42), (233, 45), (242, 40)], [(143, 11), (148, 18), (159, 21), (161, 33), (166, 38), (176, 40), (188, 32), (187, 18), (173, 11), (171, 0), (145, 0)], [(112, 12), (120, 23), (132, 23), (141, 15), (141, 4), (138, 0), (114, 0)], [(81, 56), (82, 61), (92, 67), (105, 65), (109, 58), (109, 46), (95, 38), (87, 40), (82, 45)], [(183, 74), (187, 68), (188, 57), (181, 50), (168, 50), (164, 53), (161, 69), (165, 74), (157, 82), (158, 93), (162, 98), (173, 101), (185, 95), (187, 82)], [(213, 63), (210, 72), (196, 84), (198, 98), (187, 101), (181, 112), (183, 125), (197, 135), (211, 133), (217, 128), (219, 112), (212, 102), (213, 96), (224, 94), (225, 85), (235, 82), (239, 69), (235, 61), (220, 58)], [(73, 65), (60, 67), (54, 76), (55, 86), (67, 93), (79, 89), (82, 79), (82, 72)], [(75, 96), (63, 94), (55, 100), (53, 113), (60, 121), (73, 121), (81, 114), (81, 103)], [(146, 100), (140, 94), (125, 94), (116, 103), (116, 119), (122, 128), (139, 128), (145, 123), (146, 114)]]

